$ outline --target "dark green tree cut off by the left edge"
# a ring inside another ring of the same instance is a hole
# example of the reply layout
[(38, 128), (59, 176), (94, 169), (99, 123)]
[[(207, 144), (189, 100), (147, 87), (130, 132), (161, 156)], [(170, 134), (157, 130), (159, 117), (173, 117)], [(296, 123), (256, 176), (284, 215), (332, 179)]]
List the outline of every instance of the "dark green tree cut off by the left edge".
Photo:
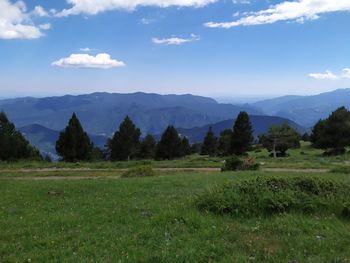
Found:
[(0, 160), (42, 160), (39, 151), (16, 130), (4, 112), (0, 112)]

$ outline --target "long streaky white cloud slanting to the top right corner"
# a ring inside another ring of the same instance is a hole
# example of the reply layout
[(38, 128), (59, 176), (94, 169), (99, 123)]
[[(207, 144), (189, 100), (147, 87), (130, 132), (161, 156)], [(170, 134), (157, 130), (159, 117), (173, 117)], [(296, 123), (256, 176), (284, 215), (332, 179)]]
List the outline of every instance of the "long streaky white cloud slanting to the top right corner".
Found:
[(297, 0), (284, 1), (268, 9), (248, 13), (246, 16), (232, 22), (208, 22), (205, 26), (212, 28), (231, 28), (273, 24), (278, 21), (295, 21), (303, 23), (315, 20), (320, 15), (333, 12), (350, 11), (349, 0)]

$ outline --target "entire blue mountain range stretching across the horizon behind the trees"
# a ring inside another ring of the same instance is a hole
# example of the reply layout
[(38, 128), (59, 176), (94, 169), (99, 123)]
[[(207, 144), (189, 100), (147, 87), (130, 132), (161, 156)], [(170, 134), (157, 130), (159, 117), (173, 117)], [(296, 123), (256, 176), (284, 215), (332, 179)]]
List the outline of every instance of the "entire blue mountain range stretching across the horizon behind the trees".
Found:
[(271, 125), (284, 122), (303, 133), (340, 106), (350, 108), (350, 89), (314, 96), (284, 96), (244, 105), (218, 103), (190, 94), (141, 92), (0, 100), (0, 110), (6, 112), (32, 144), (49, 155), (55, 154), (54, 143), (59, 131), (67, 125), (73, 112), (95, 145), (103, 147), (126, 115), (141, 129), (143, 136), (147, 133), (159, 136), (168, 125), (173, 125), (191, 142), (198, 142), (209, 126), (216, 135), (223, 129), (232, 128), (240, 111), (251, 116), (257, 136)]

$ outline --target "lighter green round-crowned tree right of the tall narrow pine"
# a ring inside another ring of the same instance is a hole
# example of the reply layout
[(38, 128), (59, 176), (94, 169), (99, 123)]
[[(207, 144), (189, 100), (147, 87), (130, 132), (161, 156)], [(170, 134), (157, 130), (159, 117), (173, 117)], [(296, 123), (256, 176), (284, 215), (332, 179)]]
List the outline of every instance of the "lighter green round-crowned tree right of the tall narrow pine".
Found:
[(272, 126), (267, 134), (259, 136), (259, 141), (274, 157), (284, 157), (288, 149), (300, 148), (300, 135), (288, 123)]

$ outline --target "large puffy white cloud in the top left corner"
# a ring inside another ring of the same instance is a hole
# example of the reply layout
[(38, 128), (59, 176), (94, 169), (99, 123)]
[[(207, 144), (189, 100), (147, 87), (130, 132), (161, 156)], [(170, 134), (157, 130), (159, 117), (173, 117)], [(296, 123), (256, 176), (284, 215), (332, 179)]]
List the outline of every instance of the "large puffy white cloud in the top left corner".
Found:
[(43, 36), (41, 29), (47, 28), (32, 23), (23, 1), (0, 0), (0, 39), (35, 39)]

